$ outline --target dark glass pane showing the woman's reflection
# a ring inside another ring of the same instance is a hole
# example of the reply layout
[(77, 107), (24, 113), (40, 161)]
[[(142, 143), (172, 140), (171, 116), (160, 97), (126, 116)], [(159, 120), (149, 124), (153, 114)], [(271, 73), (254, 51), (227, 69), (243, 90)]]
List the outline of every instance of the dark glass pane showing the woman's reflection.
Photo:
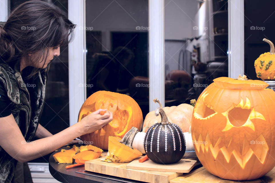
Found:
[[(86, 1), (87, 98), (106, 90), (149, 112), (148, 0)], [(140, 86), (140, 87), (139, 87)]]

